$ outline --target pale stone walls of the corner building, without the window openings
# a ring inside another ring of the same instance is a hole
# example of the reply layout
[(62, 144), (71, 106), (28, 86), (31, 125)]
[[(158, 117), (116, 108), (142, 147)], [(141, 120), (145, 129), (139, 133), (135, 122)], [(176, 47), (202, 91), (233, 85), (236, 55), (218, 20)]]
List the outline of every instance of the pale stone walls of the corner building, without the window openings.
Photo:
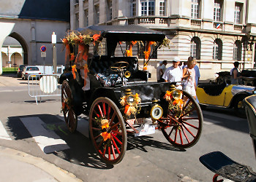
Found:
[[(99, 5), (99, 25), (135, 24), (146, 28), (162, 31), (172, 41), (170, 49), (158, 50), (157, 59), (152, 59), (148, 70), (155, 72), (161, 60), (172, 60), (178, 56), (187, 60), (190, 55), (190, 43), (194, 36), (201, 42), (200, 60), (197, 65), (201, 71), (201, 79), (215, 79), (214, 74), (219, 71), (230, 71), (233, 68), (233, 49), (236, 40), (248, 39), (249, 44), (242, 50), (241, 68), (253, 68), (255, 60), (256, 41), (256, 1), (254, 0), (223, 0), (221, 20), (214, 21), (214, 1), (200, 0), (199, 17), (191, 18), (191, 0), (166, 0), (165, 16), (159, 17), (159, 0), (155, 0), (155, 15), (141, 17), (140, 0), (136, 0), (136, 16), (131, 15), (129, 1), (113, 0), (113, 19), (107, 21), (106, 0), (79, 0), (78, 4), (70, 1), (71, 29), (75, 29), (75, 13), (79, 14), (79, 26), (83, 28), (83, 10), (89, 9), (89, 25), (94, 25), (94, 6)], [(234, 23), (235, 4), (243, 4), (241, 9), (241, 23)], [(82, 5), (81, 5), (82, 4)], [(221, 27), (217, 28), (217, 23)], [(213, 59), (215, 39), (222, 40), (222, 60)], [(134, 49), (136, 49), (134, 47)], [(118, 55), (121, 55), (118, 52)], [(140, 60), (143, 64), (143, 60)], [(167, 66), (170, 66), (168, 64)], [(155, 76), (152, 76), (155, 77)]]

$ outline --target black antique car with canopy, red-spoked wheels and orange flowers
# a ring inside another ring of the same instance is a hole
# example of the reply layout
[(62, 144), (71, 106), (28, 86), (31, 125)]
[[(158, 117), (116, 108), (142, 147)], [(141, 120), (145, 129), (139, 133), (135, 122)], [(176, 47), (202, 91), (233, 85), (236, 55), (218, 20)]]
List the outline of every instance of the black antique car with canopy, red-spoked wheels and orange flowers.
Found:
[[(69, 64), (59, 79), (64, 119), (69, 131), (75, 132), (78, 116), (88, 116), (90, 138), (102, 161), (121, 162), (128, 134), (149, 135), (161, 130), (178, 148), (197, 143), (203, 114), (196, 100), (176, 90), (175, 83), (148, 82), (148, 60), (168, 44), (164, 33), (136, 25), (93, 25), (67, 33), (63, 42)], [(99, 45), (106, 47), (106, 55), (98, 55)], [(90, 46), (94, 47), (91, 58)], [(132, 47), (144, 48), (141, 68), (138, 57), (132, 56)], [(116, 56), (116, 50), (123, 55)], [(83, 69), (76, 66), (79, 57)]]

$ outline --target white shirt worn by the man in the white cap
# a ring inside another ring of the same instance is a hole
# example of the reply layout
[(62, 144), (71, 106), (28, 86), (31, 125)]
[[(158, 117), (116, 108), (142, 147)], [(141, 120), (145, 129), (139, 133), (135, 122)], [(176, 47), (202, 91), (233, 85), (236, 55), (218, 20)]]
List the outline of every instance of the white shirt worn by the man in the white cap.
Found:
[(162, 76), (162, 79), (166, 79), (168, 82), (181, 82), (183, 76), (181, 67), (174, 68), (170, 66), (165, 70), (165, 74)]

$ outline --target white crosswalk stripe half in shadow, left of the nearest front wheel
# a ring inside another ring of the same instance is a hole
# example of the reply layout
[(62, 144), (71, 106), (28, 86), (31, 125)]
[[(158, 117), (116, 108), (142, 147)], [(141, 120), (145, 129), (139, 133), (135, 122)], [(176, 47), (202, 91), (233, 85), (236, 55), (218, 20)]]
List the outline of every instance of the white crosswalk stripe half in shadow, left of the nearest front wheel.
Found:
[(67, 143), (59, 138), (59, 135), (43, 127), (45, 123), (39, 117), (23, 117), (20, 118), (20, 121), (23, 122), (26, 129), (29, 130), (31, 136), (34, 138), (34, 141), (36, 141), (39, 148), (45, 154), (69, 149)]

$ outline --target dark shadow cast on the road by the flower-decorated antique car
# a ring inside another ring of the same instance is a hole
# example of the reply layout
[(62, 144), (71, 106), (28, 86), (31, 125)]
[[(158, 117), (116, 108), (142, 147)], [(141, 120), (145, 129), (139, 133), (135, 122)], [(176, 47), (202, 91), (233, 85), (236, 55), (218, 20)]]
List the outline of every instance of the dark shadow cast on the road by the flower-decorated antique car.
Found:
[[(80, 132), (76, 131), (74, 133), (70, 133), (66, 127), (66, 124), (63, 120), (59, 118), (59, 116), (51, 115), (51, 114), (35, 114), (35, 115), (27, 115), (27, 116), (12, 116), (9, 117), (7, 121), (7, 127), (9, 128), (10, 132), (12, 132), (12, 137), (15, 138), (14, 140), (26, 140), (28, 138), (32, 138), (31, 129), (27, 129), (26, 125), (21, 122), (20, 119), (32, 119), (31, 123), (33, 123), (33, 119), (39, 118), (39, 121), (42, 121), (42, 124), (36, 124), (36, 128), (33, 128), (33, 137), (37, 136), (45, 136), (45, 138), (54, 138), (54, 139), (62, 139), (67, 143), (69, 149), (64, 149), (61, 151), (53, 151), (50, 154), (54, 154), (56, 157), (66, 160), (67, 162), (71, 162), (75, 165), (80, 165), (83, 167), (91, 167), (97, 169), (111, 169), (113, 165), (106, 165), (104, 162), (101, 161), (99, 156), (97, 155), (94, 146), (91, 143), (89, 138), (86, 138), (85, 135), (81, 134)], [(35, 119), (35, 122), (38, 122)], [(82, 122), (82, 121), (78, 121)], [(87, 122), (87, 121), (83, 121)], [(38, 125), (38, 128), (37, 128)], [(34, 125), (33, 125), (34, 126)], [(48, 132), (42, 132), (42, 130), (46, 130)], [(50, 134), (53, 131), (57, 135), (54, 137)], [(43, 134), (42, 134), (43, 133)], [(49, 134), (48, 134), (49, 133)], [(153, 137), (150, 136), (142, 136), (142, 137), (133, 137), (132, 135), (128, 136), (128, 143), (127, 143), (127, 150), (139, 149), (141, 151), (147, 151), (147, 147), (152, 147), (156, 149), (165, 149), (170, 151), (186, 151), (184, 149), (178, 149), (169, 143), (162, 143), (160, 141), (154, 141)], [(37, 145), (36, 141), (31, 143), (31, 147), (37, 147), (39, 151), (39, 146)], [(59, 145), (59, 146), (58, 146)], [(65, 144), (56, 144), (56, 145), (49, 145), (45, 146), (43, 151), (50, 151), (50, 149), (56, 147), (61, 149), (61, 145)], [(47, 153), (47, 152), (45, 152)], [(31, 154), (33, 155), (33, 154)], [(47, 154), (45, 154), (47, 155)], [(42, 155), (44, 158), (45, 155)], [(48, 160), (45, 157), (45, 160)], [(49, 161), (53, 162), (53, 161)]]

